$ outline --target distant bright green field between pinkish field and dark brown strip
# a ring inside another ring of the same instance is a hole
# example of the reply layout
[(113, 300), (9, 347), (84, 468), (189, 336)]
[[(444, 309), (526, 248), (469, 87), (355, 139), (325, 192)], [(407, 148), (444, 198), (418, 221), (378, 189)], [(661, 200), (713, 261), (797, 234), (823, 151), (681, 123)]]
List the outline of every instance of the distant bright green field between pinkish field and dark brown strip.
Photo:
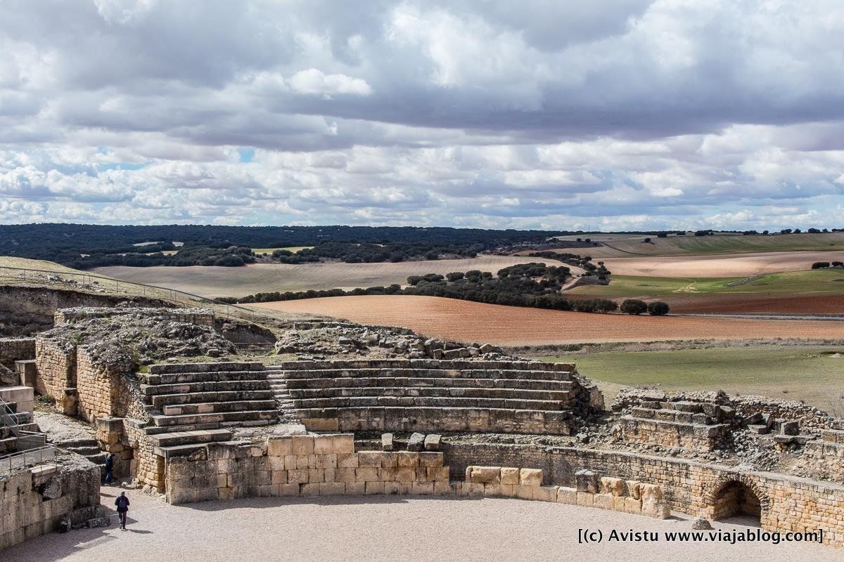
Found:
[(808, 270), (757, 277), (612, 276), (609, 285), (579, 286), (572, 294), (614, 297), (717, 295), (796, 295), (844, 293), (844, 270)]

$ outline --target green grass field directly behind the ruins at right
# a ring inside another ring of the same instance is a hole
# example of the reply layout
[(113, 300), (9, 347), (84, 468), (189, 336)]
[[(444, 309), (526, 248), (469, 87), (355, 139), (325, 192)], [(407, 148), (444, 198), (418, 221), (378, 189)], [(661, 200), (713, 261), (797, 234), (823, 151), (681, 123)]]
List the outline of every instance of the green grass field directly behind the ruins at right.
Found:
[(830, 409), (844, 395), (844, 348), (763, 345), (672, 351), (598, 351), (541, 357), (572, 362), (607, 403), (619, 388), (718, 390), (803, 400)]

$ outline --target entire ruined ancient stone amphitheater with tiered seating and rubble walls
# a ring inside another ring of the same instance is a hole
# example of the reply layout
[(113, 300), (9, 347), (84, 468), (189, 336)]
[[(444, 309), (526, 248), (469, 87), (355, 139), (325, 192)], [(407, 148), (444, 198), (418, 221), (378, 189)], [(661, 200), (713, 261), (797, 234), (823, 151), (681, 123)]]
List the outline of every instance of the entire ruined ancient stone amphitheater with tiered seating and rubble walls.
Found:
[[(844, 544), (844, 422), (804, 404), (627, 391), (606, 409), (575, 366), (490, 346), (300, 325), (280, 328), (287, 343), (273, 352), (272, 341), (225, 340), (220, 321), (201, 309), (74, 309), (55, 329), (0, 340), (15, 377), (0, 387), (0, 549), (96, 524), (104, 452), (117, 477), (173, 504), (500, 496), (644, 517), (744, 514)], [(291, 334), (303, 351), (290, 351)], [(334, 346), (322, 356), (317, 335)], [(40, 433), (35, 396), (87, 424), (88, 439)]]

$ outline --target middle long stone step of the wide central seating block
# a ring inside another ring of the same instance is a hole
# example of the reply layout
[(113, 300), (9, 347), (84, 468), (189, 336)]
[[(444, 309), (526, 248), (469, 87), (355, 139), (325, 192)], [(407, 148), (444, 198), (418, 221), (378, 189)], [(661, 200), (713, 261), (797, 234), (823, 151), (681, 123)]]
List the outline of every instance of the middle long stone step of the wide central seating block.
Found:
[(301, 388), (370, 388), (370, 387), (449, 387), (449, 388), (518, 388), (525, 390), (566, 391), (575, 388), (571, 381), (517, 380), (510, 378), (447, 378), (447, 377), (332, 377), (294, 379), (289, 390)]

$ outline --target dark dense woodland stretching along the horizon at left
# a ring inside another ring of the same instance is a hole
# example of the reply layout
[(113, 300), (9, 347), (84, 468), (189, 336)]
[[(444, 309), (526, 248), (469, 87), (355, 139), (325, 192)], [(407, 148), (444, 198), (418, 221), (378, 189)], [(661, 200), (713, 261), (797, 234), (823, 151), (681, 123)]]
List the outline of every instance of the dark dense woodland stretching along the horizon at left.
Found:
[[(480, 251), (544, 242), (567, 231), (448, 227), (225, 227), (201, 225), (0, 225), (3, 255), (56, 261), (77, 269), (104, 265), (244, 265), (251, 248), (315, 246), (273, 254), (278, 263), (348, 263), (471, 257)], [(145, 243), (155, 244), (145, 244)], [(176, 246), (174, 242), (183, 245)], [(133, 244), (145, 244), (136, 246)], [(177, 250), (177, 254), (160, 252)]]

